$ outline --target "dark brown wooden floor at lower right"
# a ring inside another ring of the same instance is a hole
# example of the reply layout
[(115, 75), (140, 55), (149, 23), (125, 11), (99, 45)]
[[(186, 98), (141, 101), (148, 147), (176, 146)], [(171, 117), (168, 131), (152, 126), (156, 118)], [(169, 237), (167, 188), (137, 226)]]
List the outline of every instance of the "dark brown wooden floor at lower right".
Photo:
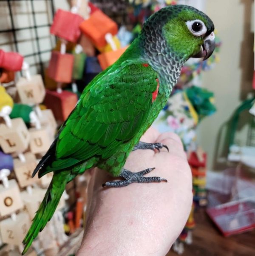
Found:
[[(182, 256), (255, 256), (255, 230), (224, 237), (203, 209), (195, 212), (193, 244), (184, 245)], [(167, 256), (176, 256), (172, 250)]]

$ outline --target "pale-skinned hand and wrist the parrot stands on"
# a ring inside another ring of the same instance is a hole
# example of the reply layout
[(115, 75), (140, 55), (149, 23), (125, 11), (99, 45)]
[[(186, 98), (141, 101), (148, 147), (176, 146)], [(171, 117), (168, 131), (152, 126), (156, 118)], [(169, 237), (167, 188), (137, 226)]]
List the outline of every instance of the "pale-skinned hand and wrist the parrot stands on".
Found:
[(156, 167), (146, 176), (168, 182), (102, 188), (110, 176), (94, 169), (88, 191), (88, 221), (77, 256), (166, 255), (181, 233), (192, 204), (192, 176), (181, 140), (150, 128), (143, 142), (167, 145), (160, 153), (131, 152), (125, 168), (140, 171)]

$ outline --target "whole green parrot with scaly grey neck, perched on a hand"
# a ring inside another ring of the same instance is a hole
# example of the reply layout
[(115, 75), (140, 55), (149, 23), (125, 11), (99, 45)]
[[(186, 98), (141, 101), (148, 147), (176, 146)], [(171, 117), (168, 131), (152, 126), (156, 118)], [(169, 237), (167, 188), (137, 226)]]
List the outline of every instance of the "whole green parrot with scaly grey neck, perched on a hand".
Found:
[(53, 216), (65, 185), (78, 174), (98, 167), (122, 177), (103, 187), (167, 181), (144, 176), (154, 168), (134, 173), (123, 166), (133, 150), (167, 148), (139, 139), (166, 104), (184, 62), (210, 57), (213, 31), (212, 20), (193, 7), (163, 8), (148, 18), (119, 60), (88, 84), (32, 175), (54, 173), (23, 240), (23, 254)]

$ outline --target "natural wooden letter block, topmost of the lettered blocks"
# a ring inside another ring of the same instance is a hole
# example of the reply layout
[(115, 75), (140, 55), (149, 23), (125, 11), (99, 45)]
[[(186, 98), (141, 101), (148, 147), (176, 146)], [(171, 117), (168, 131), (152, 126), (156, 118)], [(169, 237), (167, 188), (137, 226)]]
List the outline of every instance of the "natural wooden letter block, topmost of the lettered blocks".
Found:
[(31, 80), (20, 77), (16, 87), (23, 104), (39, 104), (42, 103), (45, 97), (45, 88), (41, 75), (31, 76)]

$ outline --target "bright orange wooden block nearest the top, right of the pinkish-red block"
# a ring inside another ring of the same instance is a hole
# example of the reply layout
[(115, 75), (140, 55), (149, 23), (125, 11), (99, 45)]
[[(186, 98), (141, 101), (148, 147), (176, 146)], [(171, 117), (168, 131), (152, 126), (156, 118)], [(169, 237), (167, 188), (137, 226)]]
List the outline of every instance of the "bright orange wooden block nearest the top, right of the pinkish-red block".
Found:
[(79, 27), (97, 48), (107, 44), (105, 40), (107, 33), (112, 35), (118, 33), (118, 25), (100, 10), (91, 14), (89, 19), (84, 20)]

